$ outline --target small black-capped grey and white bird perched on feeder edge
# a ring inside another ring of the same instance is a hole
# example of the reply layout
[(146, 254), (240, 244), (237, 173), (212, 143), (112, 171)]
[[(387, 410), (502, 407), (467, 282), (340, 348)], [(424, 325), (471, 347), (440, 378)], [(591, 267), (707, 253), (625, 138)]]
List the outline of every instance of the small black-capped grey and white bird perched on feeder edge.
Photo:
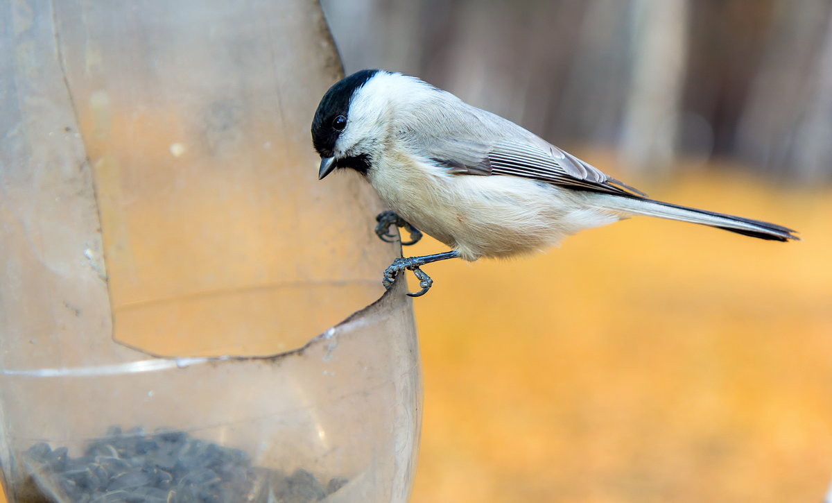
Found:
[(650, 199), (532, 132), (468, 105), (450, 92), (397, 72), (361, 70), (324, 94), (312, 120), (321, 157), (319, 179), (335, 168), (364, 175), (390, 208), (375, 232), (404, 227), (452, 251), (398, 258), (384, 286), (414, 271), (422, 290), (433, 280), (421, 266), (448, 258), (528, 254), (583, 229), (634, 215), (692, 222), (774, 241), (793, 230)]

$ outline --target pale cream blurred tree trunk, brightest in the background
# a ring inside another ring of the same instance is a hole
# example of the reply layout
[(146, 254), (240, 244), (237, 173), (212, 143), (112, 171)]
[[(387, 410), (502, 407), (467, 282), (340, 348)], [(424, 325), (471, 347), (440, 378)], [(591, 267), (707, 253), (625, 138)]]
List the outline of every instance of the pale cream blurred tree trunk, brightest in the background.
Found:
[(686, 68), (686, 0), (634, 0), (632, 79), (622, 156), (633, 170), (669, 169)]

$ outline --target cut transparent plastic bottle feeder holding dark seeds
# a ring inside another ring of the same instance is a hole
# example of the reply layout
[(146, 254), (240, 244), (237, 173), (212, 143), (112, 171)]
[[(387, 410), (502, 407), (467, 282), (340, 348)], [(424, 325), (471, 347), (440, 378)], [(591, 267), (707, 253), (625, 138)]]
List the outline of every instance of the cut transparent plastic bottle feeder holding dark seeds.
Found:
[[(404, 502), (398, 245), (317, 180), (317, 2), (0, 5), (8, 501)], [(384, 294), (384, 295), (383, 295)]]

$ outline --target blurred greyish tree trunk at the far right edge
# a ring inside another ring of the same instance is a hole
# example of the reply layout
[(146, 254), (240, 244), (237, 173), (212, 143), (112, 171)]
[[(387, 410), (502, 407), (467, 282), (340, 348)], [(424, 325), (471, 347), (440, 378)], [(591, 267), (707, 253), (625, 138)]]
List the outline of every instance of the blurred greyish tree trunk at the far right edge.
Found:
[(832, 10), (777, 2), (765, 57), (739, 126), (740, 156), (810, 180), (832, 165)]

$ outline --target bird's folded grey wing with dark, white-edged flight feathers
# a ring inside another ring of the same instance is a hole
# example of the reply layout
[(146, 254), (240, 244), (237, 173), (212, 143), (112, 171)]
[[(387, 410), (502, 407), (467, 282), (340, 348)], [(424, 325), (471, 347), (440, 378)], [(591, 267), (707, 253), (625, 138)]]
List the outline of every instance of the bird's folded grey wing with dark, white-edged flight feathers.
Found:
[(524, 177), (578, 190), (646, 197), (644, 192), (531, 133), (519, 139), (503, 138), (491, 145), (453, 138), (434, 139), (428, 151), (426, 157), (455, 174)]

